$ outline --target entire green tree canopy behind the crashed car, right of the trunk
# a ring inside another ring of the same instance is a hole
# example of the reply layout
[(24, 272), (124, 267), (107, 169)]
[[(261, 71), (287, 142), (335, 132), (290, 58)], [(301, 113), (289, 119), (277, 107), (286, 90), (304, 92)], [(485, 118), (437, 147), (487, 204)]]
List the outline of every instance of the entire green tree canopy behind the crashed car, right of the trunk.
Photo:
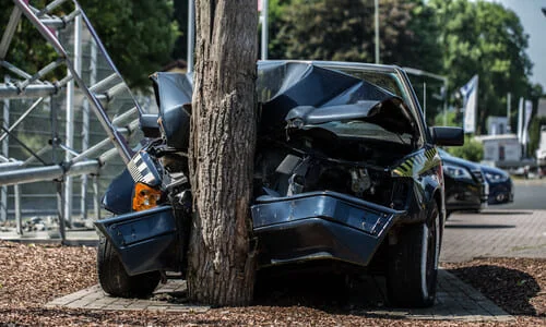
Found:
[[(372, 0), (270, 3), (274, 13), (270, 15), (273, 58), (375, 61)], [(529, 36), (515, 13), (501, 4), (482, 0), (381, 0), (379, 8), (382, 63), (447, 75), (451, 95), (474, 74), (479, 75), (478, 133), (485, 132), (486, 117), (506, 114), (507, 93), (512, 94), (512, 108), (521, 96), (542, 95), (542, 88), (529, 82)], [(442, 102), (435, 100), (432, 92), (438, 95), (440, 85), (437, 81), (416, 81), (418, 92), (423, 82), (436, 88), (428, 92), (427, 104), (437, 106), (438, 112)], [(430, 112), (430, 117), (437, 112)]]

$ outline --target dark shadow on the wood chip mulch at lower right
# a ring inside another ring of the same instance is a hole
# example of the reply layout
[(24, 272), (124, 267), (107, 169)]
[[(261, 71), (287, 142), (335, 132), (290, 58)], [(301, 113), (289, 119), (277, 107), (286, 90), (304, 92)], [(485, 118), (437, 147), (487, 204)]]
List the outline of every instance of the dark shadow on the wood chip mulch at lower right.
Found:
[(448, 270), (489, 298), (511, 315), (545, 317), (530, 303), (541, 287), (529, 274), (506, 267), (480, 265)]

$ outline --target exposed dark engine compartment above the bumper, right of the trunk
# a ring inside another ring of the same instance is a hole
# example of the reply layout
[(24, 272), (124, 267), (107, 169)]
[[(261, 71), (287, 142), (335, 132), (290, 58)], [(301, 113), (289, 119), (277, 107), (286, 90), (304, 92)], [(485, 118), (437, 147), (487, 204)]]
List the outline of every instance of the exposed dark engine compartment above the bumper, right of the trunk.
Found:
[(408, 154), (411, 146), (307, 134), (289, 142), (261, 141), (266, 144), (258, 146), (254, 197), (333, 191), (393, 209), (405, 206), (410, 181), (393, 179), (388, 167)]

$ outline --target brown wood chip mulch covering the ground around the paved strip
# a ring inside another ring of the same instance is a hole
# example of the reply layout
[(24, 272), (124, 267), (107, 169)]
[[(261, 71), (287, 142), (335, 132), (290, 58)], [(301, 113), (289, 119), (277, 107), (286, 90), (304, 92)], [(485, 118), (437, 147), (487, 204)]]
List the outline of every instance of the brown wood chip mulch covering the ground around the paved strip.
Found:
[[(347, 306), (253, 305), (205, 313), (103, 312), (46, 308), (62, 295), (97, 283), (94, 247), (19, 244), (0, 241), (0, 325), (10, 326), (456, 326), (456, 322), (393, 319), (355, 314)], [(546, 326), (546, 261), (480, 258), (446, 264), (517, 317), (509, 323), (465, 326)], [(335, 305), (335, 304), (333, 304)]]

